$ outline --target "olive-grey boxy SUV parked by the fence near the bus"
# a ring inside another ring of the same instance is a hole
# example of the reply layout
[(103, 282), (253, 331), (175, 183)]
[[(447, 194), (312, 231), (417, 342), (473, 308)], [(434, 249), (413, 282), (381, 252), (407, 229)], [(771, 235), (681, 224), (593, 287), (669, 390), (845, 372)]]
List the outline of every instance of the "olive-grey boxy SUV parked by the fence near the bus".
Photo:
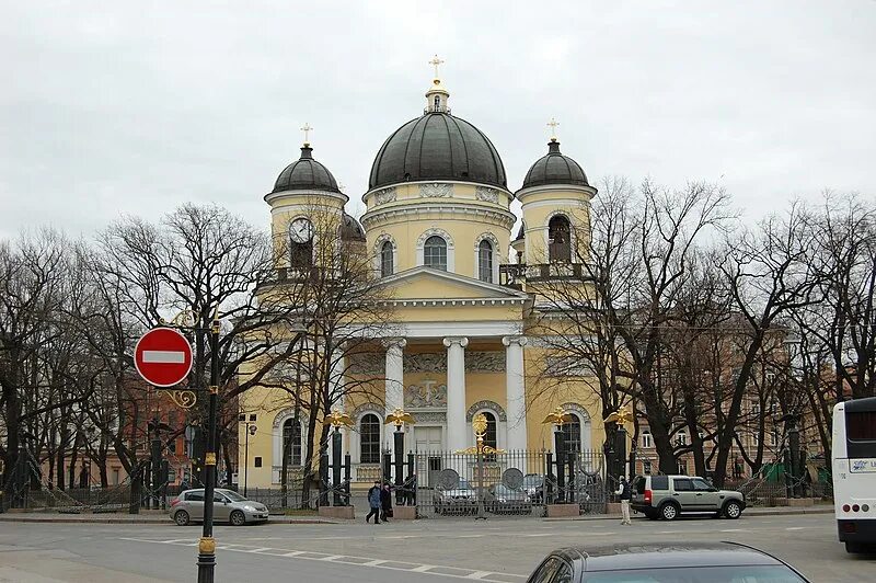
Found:
[(636, 476), (631, 506), (650, 519), (675, 521), (680, 514), (710, 513), (736, 519), (746, 498), (734, 490), (718, 490), (698, 476)]

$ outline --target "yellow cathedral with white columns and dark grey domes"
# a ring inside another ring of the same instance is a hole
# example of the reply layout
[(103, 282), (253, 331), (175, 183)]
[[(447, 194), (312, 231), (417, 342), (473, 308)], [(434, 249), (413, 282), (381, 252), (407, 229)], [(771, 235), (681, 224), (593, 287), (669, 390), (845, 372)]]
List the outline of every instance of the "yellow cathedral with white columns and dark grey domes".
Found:
[[(416, 421), (405, 427), (405, 453), (473, 446), (479, 413), (487, 420), (487, 445), (551, 450), (554, 427), (543, 421), (557, 407), (570, 415), (564, 426), (569, 448), (601, 449), (604, 441), (601, 404), (587, 379), (544, 379), (550, 354), (539, 333), (545, 312), (538, 282), (556, 276), (552, 265), (574, 271), (586, 255), (586, 241), (575, 233), (588, 225), (597, 190), (555, 138), (515, 188), (493, 142), (451, 114), (449, 98), (436, 62), (423, 114), (377, 150), (360, 222), (344, 213), (348, 197), (308, 142), (265, 196), (273, 236), (290, 241), (290, 253), (319, 244), (310, 216), (316, 204), (364, 245), (388, 290), (393, 325), (379, 339), (381, 352), (337, 366), (338, 377), (366, 376), (378, 385), (371, 398), (357, 395), (334, 405), (353, 422), (343, 430), (343, 451), (350, 455), (354, 487), (381, 475), (381, 456), (393, 448), (387, 416), (395, 409)], [(515, 198), (522, 205), (518, 229)], [(307, 414), (290, 428), (295, 408), (275, 388), (247, 391), (240, 408), (246, 423), (239, 427), (239, 483), (276, 488), (284, 435), (295, 441), (287, 467), (306, 458)], [(422, 484), (430, 469), (419, 469)]]

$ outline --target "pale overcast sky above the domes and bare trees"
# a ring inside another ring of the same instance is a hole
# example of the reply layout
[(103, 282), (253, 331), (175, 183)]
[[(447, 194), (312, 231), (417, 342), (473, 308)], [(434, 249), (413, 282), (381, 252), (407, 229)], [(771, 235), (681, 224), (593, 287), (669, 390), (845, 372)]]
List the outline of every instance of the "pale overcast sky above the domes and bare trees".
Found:
[(358, 215), (436, 53), (512, 191), (555, 116), (591, 183), (719, 182), (748, 220), (827, 187), (876, 196), (873, 0), (1, 5), (0, 237), (186, 201), (267, 228), (304, 122)]

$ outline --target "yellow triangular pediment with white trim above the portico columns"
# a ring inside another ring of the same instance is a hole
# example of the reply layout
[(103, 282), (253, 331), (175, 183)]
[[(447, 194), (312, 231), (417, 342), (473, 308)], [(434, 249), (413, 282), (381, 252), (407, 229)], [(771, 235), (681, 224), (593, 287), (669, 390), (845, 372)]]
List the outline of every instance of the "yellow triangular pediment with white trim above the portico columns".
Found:
[(395, 300), (529, 299), (527, 294), (517, 289), (424, 266), (384, 277), (382, 285)]

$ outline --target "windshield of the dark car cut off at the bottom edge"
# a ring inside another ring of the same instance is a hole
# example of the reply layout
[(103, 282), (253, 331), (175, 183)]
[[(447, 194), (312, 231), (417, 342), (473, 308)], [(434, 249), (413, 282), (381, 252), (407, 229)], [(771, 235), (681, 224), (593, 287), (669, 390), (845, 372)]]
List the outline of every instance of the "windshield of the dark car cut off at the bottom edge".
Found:
[(593, 583), (805, 583), (781, 564), (622, 569), (587, 573)]

